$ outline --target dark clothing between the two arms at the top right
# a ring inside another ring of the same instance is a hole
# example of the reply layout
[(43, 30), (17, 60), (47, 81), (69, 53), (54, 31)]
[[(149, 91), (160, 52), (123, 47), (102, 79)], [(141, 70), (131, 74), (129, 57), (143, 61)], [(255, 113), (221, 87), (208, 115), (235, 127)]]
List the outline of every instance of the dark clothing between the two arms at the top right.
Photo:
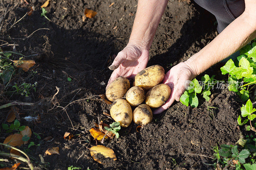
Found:
[(244, 0), (194, 0), (217, 19), (218, 32), (223, 31), (232, 21), (239, 17), (245, 9)]

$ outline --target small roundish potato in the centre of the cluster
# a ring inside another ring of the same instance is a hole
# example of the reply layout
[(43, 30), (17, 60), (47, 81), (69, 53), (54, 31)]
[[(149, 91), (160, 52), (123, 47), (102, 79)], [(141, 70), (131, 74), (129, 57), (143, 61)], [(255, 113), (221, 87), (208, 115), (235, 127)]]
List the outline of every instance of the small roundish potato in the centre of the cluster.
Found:
[(127, 91), (125, 98), (131, 106), (138, 106), (144, 101), (145, 92), (141, 87), (133, 86)]

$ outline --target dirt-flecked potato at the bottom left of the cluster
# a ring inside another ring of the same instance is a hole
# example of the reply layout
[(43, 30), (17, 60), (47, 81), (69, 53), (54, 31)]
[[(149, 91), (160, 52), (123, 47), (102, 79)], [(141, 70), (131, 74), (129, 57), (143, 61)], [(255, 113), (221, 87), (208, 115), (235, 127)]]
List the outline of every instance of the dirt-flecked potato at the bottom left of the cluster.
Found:
[(110, 115), (116, 122), (120, 122), (120, 125), (125, 128), (132, 122), (132, 108), (124, 99), (116, 99), (112, 103)]

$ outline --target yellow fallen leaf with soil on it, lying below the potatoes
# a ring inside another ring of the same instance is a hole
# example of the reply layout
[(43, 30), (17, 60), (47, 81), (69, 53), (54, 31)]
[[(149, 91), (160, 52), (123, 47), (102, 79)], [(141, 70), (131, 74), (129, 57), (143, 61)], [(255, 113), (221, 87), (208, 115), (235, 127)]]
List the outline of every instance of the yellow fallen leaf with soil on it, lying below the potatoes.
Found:
[(102, 145), (92, 146), (90, 148), (90, 153), (91, 153), (92, 158), (94, 160), (96, 160), (97, 162), (99, 162), (100, 164), (102, 164), (101, 160), (95, 158), (96, 154), (98, 154), (98, 153), (102, 154), (105, 158), (112, 158), (112, 159), (116, 160), (115, 152), (112, 149), (102, 146)]

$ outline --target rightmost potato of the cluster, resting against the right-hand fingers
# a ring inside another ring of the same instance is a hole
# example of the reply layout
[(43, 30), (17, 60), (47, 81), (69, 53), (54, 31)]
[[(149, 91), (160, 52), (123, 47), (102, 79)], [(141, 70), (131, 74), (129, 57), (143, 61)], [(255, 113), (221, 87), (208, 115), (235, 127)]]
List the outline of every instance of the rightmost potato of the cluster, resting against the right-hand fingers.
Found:
[(149, 107), (156, 108), (162, 106), (169, 99), (171, 88), (169, 85), (160, 84), (150, 89), (146, 94), (146, 104)]

